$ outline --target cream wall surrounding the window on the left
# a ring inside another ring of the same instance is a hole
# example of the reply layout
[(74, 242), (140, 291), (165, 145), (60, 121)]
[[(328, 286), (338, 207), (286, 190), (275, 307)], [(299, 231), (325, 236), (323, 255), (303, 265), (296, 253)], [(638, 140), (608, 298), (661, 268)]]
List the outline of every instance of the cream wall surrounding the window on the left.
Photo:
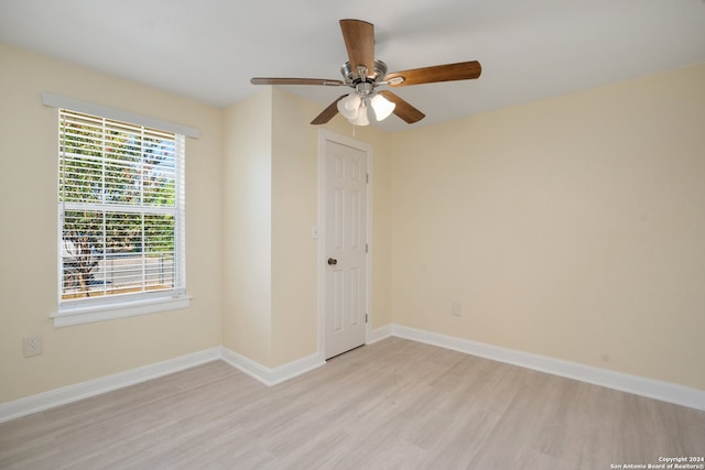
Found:
[[(220, 345), (221, 110), (2, 44), (0, 69), (0, 402)], [(57, 111), (42, 91), (200, 129), (186, 142), (188, 309), (54, 328)], [(24, 359), (35, 335), (44, 353)]]

